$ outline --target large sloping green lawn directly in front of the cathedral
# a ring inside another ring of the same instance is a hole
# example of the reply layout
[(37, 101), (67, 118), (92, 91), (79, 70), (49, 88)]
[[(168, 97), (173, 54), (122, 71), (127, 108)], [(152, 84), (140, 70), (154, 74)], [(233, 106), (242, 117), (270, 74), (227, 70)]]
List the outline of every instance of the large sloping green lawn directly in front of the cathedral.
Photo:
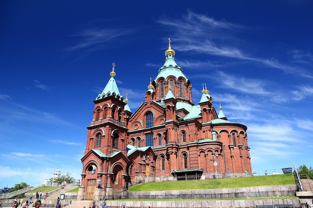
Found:
[(129, 192), (225, 189), (242, 187), (263, 187), (295, 185), (293, 174), (253, 176), (227, 179), (153, 182), (138, 184), (128, 189)]

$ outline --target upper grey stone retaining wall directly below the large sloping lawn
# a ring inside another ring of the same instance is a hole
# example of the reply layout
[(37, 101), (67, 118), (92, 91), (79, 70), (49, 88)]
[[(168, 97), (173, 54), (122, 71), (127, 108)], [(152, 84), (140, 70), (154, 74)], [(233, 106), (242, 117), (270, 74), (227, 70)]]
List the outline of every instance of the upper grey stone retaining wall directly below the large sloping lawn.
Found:
[(157, 192), (128, 192), (128, 199), (232, 199), (295, 196), (295, 185)]

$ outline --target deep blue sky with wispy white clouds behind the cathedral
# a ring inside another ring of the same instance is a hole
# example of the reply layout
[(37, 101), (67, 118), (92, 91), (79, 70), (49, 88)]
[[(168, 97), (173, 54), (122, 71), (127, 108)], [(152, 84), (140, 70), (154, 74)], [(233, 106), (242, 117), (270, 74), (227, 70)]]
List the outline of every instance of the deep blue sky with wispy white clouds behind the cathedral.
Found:
[(0, 188), (80, 179), (93, 100), (115, 80), (134, 112), (168, 40), (200, 101), (247, 126), (253, 171), (313, 166), (313, 2), (0, 1)]

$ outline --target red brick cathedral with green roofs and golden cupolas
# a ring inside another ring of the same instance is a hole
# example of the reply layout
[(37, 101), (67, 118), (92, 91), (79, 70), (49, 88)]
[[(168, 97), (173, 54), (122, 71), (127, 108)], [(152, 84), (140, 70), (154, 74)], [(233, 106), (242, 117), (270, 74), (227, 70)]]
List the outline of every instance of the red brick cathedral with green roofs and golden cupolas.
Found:
[(175, 62), (170, 40), (164, 65), (131, 112), (114, 64), (96, 96), (81, 159), (80, 200), (126, 198), (138, 183), (251, 175), (246, 126), (217, 114), (206, 86), (195, 105), (191, 81)]

